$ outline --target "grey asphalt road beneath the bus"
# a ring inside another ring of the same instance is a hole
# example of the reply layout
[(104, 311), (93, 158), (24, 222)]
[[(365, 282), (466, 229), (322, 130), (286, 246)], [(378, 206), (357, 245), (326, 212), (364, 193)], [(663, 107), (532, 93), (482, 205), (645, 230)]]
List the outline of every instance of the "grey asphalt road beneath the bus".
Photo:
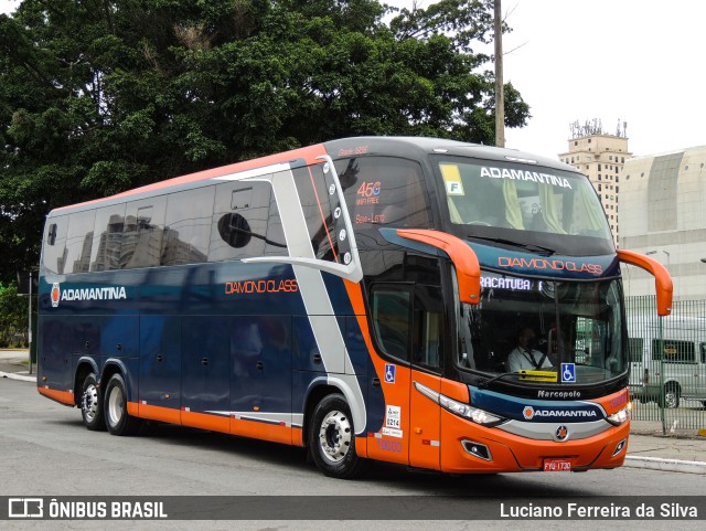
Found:
[[(396, 503), (393, 497), (478, 496), (485, 502), (513, 497), (520, 503), (537, 496), (581, 500), (587, 497), (640, 498), (704, 496), (706, 476), (641, 469), (585, 474), (515, 474), (449, 477), (410, 472), (375, 464), (355, 481), (330, 479), (306, 460), (302, 449), (176, 426), (156, 426), (137, 437), (89, 432), (76, 408), (56, 404), (28, 382), (0, 379), (0, 496), (367, 496)], [(207, 498), (202, 498), (207, 499)], [(415, 498), (409, 498), (414, 500)], [(312, 521), (100, 522), (101, 529), (360, 529), (341, 520), (331, 503), (312, 505)], [(363, 511), (365, 508), (362, 509)], [(703, 514), (706, 517), (706, 514)], [(0, 529), (94, 529), (95, 522), (0, 521)], [(370, 522), (368, 522), (370, 523)], [(420, 529), (469, 529), (479, 522), (424, 522)], [(576, 529), (603, 529), (608, 522), (565, 522)], [(625, 521), (629, 529), (702, 529), (702, 521)], [(652, 528), (652, 525), (654, 525)], [(370, 525), (364, 524), (365, 528)], [(375, 529), (409, 529), (410, 522), (377, 522)], [(418, 528), (419, 525), (415, 525)], [(517, 528), (509, 521), (484, 521), (483, 528)], [(524, 521), (522, 529), (546, 529)]]

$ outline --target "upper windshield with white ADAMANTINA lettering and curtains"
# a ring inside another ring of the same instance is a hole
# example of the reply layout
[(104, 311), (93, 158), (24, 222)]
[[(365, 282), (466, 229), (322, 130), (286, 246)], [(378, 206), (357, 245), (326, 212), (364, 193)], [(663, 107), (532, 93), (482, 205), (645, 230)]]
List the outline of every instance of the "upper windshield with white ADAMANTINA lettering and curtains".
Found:
[[(580, 174), (514, 162), (436, 157), (453, 232), (498, 235), (525, 231), (534, 243), (556, 242), (570, 254), (571, 241), (611, 241), (600, 201)], [(527, 238), (528, 236), (523, 236)], [(580, 254), (586, 254), (582, 242)], [(555, 246), (556, 247), (556, 246)], [(553, 248), (555, 248), (553, 247)], [(588, 245), (590, 248), (591, 245)], [(593, 245), (595, 247), (595, 245)]]

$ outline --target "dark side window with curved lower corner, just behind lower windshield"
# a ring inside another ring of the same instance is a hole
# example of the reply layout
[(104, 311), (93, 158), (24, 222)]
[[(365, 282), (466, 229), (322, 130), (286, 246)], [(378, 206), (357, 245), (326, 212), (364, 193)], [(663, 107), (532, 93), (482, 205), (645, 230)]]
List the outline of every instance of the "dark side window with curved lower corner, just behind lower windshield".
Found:
[(408, 360), (411, 296), (407, 286), (373, 290), (373, 331), (378, 346), (394, 358)]

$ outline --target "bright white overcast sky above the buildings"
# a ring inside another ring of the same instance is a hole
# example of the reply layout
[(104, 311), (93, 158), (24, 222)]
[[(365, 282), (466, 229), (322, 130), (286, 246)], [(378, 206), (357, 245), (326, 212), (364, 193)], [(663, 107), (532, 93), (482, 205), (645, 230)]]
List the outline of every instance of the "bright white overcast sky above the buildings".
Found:
[[(0, 0), (0, 10), (18, 3)], [(507, 147), (556, 157), (568, 148), (569, 124), (595, 118), (608, 134), (627, 121), (635, 156), (706, 145), (706, 2), (502, 3), (513, 28), (503, 38), (505, 81), (520, 91), (533, 116), (527, 127), (506, 131)]]

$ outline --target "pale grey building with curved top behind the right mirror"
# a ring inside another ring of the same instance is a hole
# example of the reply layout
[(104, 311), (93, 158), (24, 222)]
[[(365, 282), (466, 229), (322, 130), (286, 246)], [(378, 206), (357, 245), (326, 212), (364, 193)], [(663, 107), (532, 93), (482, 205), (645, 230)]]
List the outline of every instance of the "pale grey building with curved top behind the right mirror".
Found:
[[(675, 299), (706, 299), (706, 146), (625, 162), (620, 176), (620, 247), (662, 263)], [(628, 295), (654, 294), (638, 267), (623, 270)]]

